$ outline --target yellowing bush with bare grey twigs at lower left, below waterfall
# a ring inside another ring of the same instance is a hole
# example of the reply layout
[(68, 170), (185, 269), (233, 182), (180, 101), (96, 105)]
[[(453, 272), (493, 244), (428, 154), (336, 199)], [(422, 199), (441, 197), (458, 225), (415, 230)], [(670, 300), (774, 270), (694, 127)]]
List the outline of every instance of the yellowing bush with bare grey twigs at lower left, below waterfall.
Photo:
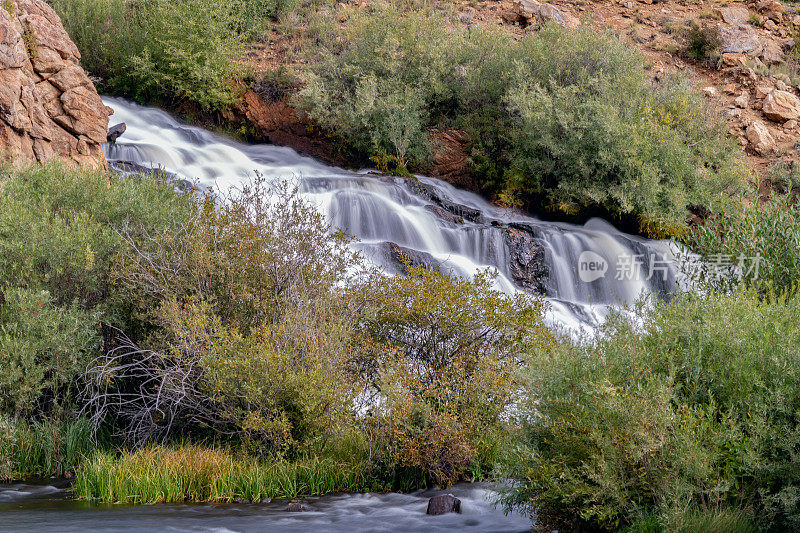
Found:
[(90, 369), (95, 420), (134, 444), (219, 433), (257, 453), (344, 429), (353, 311), (339, 287), (357, 256), (327, 229), (296, 191), (259, 178), (129, 247), (114, 279), (149, 334)]

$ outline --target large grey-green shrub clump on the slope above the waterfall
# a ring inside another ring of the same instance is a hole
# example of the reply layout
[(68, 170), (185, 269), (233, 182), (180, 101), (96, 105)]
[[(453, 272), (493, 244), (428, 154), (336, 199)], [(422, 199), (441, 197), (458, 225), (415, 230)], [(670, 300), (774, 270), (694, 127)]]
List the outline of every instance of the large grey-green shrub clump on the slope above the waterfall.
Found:
[(651, 82), (610, 34), (547, 26), (524, 38), (432, 11), (339, 13), (314, 33), (297, 103), (366, 159), (425, 170), (435, 130), (467, 133), (471, 172), (506, 203), (600, 206), (643, 231), (685, 229), (742, 182), (724, 121), (679, 78)]

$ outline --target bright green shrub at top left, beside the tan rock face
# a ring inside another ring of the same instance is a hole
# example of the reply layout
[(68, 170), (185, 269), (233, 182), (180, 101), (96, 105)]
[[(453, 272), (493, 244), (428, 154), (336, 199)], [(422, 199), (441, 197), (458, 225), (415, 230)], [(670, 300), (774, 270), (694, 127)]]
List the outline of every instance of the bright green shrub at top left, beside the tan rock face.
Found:
[(273, 0), (56, 0), (53, 7), (101, 91), (140, 101), (190, 100), (207, 110), (238, 98), (236, 63)]

